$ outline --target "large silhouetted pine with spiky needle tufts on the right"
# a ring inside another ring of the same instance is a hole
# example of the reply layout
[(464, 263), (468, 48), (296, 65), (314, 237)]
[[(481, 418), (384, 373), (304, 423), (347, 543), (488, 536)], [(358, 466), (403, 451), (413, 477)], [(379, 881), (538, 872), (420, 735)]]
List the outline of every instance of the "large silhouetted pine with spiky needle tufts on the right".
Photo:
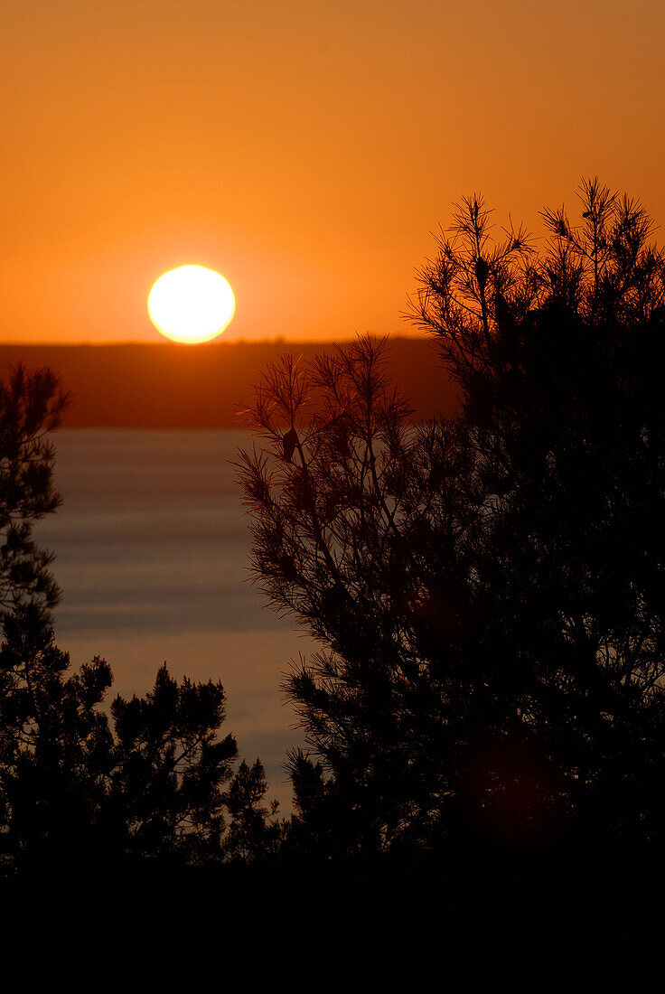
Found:
[(369, 338), (257, 391), (255, 574), (324, 646), (285, 684), (304, 848), (663, 830), (663, 255), (581, 194), (540, 255), (472, 197), (423, 268), (453, 417), (410, 423)]

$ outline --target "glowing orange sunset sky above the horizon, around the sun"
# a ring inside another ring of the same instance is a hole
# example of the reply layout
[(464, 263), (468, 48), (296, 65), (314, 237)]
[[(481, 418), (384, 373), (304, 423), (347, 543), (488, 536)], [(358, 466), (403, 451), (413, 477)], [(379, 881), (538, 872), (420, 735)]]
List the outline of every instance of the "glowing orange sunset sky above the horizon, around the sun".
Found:
[(4, 342), (155, 341), (165, 269), (225, 338), (401, 320), (484, 192), (537, 225), (584, 175), (665, 223), (662, 0), (4, 0)]

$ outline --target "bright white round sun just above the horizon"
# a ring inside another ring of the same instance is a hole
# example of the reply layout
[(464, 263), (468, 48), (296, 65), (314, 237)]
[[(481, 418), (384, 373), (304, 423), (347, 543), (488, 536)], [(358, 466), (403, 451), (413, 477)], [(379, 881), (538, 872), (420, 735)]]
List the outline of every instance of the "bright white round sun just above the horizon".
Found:
[(180, 265), (160, 276), (148, 294), (148, 314), (174, 342), (196, 345), (221, 335), (236, 311), (236, 297), (219, 272)]

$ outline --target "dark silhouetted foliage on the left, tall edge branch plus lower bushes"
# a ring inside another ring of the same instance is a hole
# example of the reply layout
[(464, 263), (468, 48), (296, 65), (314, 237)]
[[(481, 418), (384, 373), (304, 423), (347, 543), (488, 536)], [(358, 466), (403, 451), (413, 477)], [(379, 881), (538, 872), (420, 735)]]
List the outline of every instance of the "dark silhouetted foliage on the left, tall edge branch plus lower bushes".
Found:
[[(19, 367), (0, 383), (0, 867), (11, 875), (126, 859), (201, 863), (237, 858), (241, 838), (244, 859), (252, 845), (262, 856), (260, 763), (241, 766), (224, 792), (237, 747), (220, 737), (222, 684), (179, 684), (163, 666), (151, 692), (117, 697), (109, 716), (108, 664), (96, 657), (72, 673), (55, 644), (53, 557), (31, 528), (60, 504), (47, 433), (66, 403), (47, 369)], [(228, 809), (234, 841), (224, 849)]]

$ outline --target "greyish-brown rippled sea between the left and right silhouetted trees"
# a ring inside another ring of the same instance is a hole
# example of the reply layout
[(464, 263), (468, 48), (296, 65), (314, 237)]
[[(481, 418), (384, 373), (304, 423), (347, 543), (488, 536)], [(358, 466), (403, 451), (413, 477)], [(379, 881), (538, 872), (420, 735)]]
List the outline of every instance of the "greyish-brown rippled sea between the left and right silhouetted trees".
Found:
[(224, 734), (261, 759), (268, 798), (287, 814), (283, 768), (302, 745), (284, 673), (315, 644), (267, 605), (249, 573), (249, 516), (234, 465), (239, 430), (60, 430), (58, 511), (35, 527), (62, 588), (58, 645), (73, 667), (110, 664), (115, 694), (145, 694), (164, 662), (181, 679), (221, 680)]

